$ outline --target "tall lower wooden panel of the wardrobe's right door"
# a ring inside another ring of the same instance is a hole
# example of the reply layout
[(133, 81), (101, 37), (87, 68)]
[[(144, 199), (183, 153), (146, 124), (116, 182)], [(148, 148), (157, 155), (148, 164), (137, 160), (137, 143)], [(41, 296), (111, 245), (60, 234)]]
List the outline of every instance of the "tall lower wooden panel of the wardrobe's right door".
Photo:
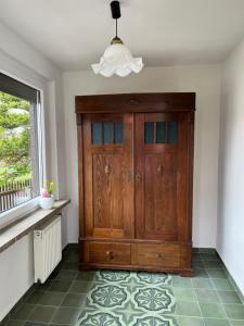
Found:
[(144, 156), (145, 231), (175, 234), (177, 230), (176, 154)]

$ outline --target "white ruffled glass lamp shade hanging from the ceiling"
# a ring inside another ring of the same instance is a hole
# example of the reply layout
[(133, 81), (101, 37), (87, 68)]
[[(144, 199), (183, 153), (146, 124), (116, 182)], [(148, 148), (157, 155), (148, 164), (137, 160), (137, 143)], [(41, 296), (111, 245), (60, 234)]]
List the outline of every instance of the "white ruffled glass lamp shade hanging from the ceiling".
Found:
[(95, 74), (111, 77), (114, 74), (126, 77), (131, 72), (140, 73), (143, 67), (142, 58), (133, 58), (124, 43), (112, 43), (105, 49), (100, 63), (92, 64)]

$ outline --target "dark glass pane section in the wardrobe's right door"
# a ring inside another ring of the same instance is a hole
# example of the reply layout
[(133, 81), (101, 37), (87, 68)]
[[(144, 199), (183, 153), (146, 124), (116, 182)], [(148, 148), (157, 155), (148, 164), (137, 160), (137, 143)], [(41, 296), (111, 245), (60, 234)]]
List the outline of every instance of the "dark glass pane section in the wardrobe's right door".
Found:
[[(155, 130), (155, 131), (154, 131)], [(170, 122), (145, 122), (144, 143), (177, 143), (178, 123)]]

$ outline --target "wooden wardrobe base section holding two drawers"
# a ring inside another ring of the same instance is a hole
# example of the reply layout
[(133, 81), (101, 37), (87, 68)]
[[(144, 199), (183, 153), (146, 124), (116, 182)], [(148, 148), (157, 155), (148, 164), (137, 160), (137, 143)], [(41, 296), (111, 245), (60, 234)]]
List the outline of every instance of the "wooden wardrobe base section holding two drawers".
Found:
[(192, 276), (191, 244), (81, 240), (79, 268), (164, 272)]

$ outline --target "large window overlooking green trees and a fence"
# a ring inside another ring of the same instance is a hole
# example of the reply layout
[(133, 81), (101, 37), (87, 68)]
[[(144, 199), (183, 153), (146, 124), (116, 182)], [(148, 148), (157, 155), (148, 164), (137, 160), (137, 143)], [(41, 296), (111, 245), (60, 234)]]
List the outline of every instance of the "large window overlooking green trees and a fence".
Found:
[(40, 193), (40, 91), (0, 74), (0, 213)]

